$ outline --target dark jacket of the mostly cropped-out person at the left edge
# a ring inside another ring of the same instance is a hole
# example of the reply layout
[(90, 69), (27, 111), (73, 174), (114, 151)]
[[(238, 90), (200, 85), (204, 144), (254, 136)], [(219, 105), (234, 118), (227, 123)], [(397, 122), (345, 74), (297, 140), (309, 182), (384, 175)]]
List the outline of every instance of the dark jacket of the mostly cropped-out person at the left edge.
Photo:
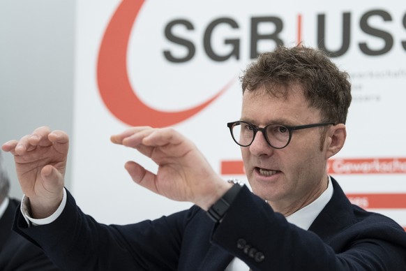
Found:
[(11, 230), (19, 204), (18, 200), (10, 199), (6, 212), (0, 219), (0, 270), (60, 270), (39, 247)]

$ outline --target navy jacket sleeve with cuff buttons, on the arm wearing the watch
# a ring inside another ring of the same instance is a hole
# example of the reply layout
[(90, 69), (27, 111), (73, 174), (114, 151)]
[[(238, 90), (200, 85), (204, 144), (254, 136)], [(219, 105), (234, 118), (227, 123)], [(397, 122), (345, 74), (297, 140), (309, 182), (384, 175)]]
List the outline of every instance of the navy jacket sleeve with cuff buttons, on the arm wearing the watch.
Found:
[(288, 223), (246, 187), (212, 238), (252, 270), (406, 270), (406, 233), (390, 219), (353, 221), (327, 243)]

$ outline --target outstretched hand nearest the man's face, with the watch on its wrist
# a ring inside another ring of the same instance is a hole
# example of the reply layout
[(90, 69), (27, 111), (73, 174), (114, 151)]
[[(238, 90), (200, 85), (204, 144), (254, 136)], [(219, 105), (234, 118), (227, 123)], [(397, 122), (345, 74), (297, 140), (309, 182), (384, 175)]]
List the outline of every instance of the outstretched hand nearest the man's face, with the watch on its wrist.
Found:
[(190, 201), (208, 210), (230, 189), (193, 142), (174, 129), (133, 127), (111, 140), (137, 149), (158, 165), (156, 174), (134, 161), (128, 161), (125, 167), (137, 184), (162, 196)]

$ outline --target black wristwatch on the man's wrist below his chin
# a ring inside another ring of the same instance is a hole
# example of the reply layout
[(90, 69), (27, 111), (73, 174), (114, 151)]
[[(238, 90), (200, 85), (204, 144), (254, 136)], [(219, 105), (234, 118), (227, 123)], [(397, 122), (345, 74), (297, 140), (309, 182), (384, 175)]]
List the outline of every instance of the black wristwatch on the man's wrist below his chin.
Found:
[(219, 200), (217, 200), (216, 203), (211, 205), (210, 209), (207, 211), (207, 215), (216, 223), (223, 219), (228, 207), (230, 207), (242, 187), (239, 180), (232, 179), (227, 180), (227, 182), (233, 184), (233, 186), (231, 186), (231, 188), (225, 192), (225, 194)]

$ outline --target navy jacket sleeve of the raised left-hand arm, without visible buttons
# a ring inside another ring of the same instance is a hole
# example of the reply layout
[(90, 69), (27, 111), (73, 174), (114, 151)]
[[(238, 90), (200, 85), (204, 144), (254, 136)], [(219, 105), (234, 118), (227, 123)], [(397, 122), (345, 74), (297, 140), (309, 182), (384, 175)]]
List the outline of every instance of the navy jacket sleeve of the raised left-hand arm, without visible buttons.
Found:
[(182, 228), (193, 210), (109, 226), (84, 214), (68, 192), (66, 207), (52, 224), (28, 226), (17, 211), (13, 229), (63, 270), (176, 270)]

